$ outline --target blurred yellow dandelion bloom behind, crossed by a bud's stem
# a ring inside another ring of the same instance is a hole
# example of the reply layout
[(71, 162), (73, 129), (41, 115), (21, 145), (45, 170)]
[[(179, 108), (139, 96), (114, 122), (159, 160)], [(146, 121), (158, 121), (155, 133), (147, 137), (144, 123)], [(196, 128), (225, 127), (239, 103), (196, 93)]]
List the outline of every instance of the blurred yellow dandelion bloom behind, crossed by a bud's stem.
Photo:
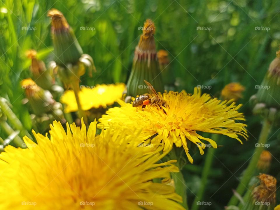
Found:
[[(80, 103), (82, 110), (90, 110), (92, 108), (112, 105), (118, 99), (122, 98), (122, 93), (125, 90), (125, 84), (98, 84), (94, 88), (82, 86), (79, 92)], [(61, 96), (60, 102), (66, 104), (65, 112), (78, 111), (78, 105), (73, 90), (67, 90)]]

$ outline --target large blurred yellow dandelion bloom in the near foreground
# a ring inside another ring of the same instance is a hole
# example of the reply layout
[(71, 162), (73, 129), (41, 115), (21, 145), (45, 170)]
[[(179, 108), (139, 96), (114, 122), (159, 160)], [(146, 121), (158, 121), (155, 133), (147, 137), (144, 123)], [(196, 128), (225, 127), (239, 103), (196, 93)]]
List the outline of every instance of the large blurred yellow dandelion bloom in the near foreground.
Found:
[(127, 144), (122, 133), (96, 134), (96, 121), (50, 125), (50, 139), (25, 137), (28, 149), (12, 146), (0, 154), (0, 209), (140, 210), (184, 208), (174, 188), (153, 183), (170, 179), (178, 168), (170, 160), (157, 163), (166, 153), (160, 147)]

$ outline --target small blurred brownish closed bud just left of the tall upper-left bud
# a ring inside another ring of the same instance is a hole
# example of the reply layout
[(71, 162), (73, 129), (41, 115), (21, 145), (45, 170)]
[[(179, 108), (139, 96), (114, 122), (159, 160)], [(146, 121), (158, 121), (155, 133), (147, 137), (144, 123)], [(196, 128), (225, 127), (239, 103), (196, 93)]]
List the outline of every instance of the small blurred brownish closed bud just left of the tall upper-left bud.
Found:
[(50, 71), (46, 69), (45, 63), (37, 59), (36, 50), (28, 50), (26, 56), (31, 59), (32, 79), (43, 89), (51, 90), (54, 80)]

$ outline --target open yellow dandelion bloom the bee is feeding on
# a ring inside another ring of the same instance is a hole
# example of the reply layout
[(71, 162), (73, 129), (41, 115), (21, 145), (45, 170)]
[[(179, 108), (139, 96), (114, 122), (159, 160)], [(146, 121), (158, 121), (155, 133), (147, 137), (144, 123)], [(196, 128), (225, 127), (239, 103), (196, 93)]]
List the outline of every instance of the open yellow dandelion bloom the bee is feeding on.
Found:
[(246, 125), (239, 123), (239, 120), (245, 120), (243, 114), (238, 112), (241, 105), (236, 106), (232, 101), (221, 102), (211, 98), (209, 94), (201, 95), (199, 89), (195, 89), (193, 95), (185, 91), (170, 91), (159, 94), (159, 97), (163, 98), (166, 107), (147, 105), (143, 111), (141, 106), (132, 107), (132, 104), (119, 100), (121, 107), (110, 108), (99, 119), (101, 123), (98, 126), (112, 126), (115, 130), (142, 127), (142, 133), (138, 135), (140, 139), (158, 134), (160, 138), (157, 139), (162, 140), (164, 151), (173, 144), (176, 147), (183, 146), (191, 163), (193, 159), (188, 152), (187, 140), (195, 143), (201, 154), (206, 146), (201, 140), (206, 140), (217, 148), (216, 142), (199, 135), (197, 131), (227, 135), (239, 142), (241, 140), (238, 135), (247, 138)]

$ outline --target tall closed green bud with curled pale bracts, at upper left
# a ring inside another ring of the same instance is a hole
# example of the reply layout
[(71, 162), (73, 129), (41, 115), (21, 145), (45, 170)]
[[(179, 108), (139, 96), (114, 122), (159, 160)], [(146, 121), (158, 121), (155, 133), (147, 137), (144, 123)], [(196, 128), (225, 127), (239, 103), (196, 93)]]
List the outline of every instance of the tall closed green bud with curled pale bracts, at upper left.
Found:
[(64, 15), (57, 9), (51, 9), (48, 16), (52, 19), (52, 35), (55, 63), (52, 69), (57, 72), (65, 87), (71, 87), (73, 81), (79, 81), (88, 68), (90, 77), (92, 70), (96, 71), (92, 57), (83, 54), (83, 50), (75, 37), (73, 29), (67, 23)]

